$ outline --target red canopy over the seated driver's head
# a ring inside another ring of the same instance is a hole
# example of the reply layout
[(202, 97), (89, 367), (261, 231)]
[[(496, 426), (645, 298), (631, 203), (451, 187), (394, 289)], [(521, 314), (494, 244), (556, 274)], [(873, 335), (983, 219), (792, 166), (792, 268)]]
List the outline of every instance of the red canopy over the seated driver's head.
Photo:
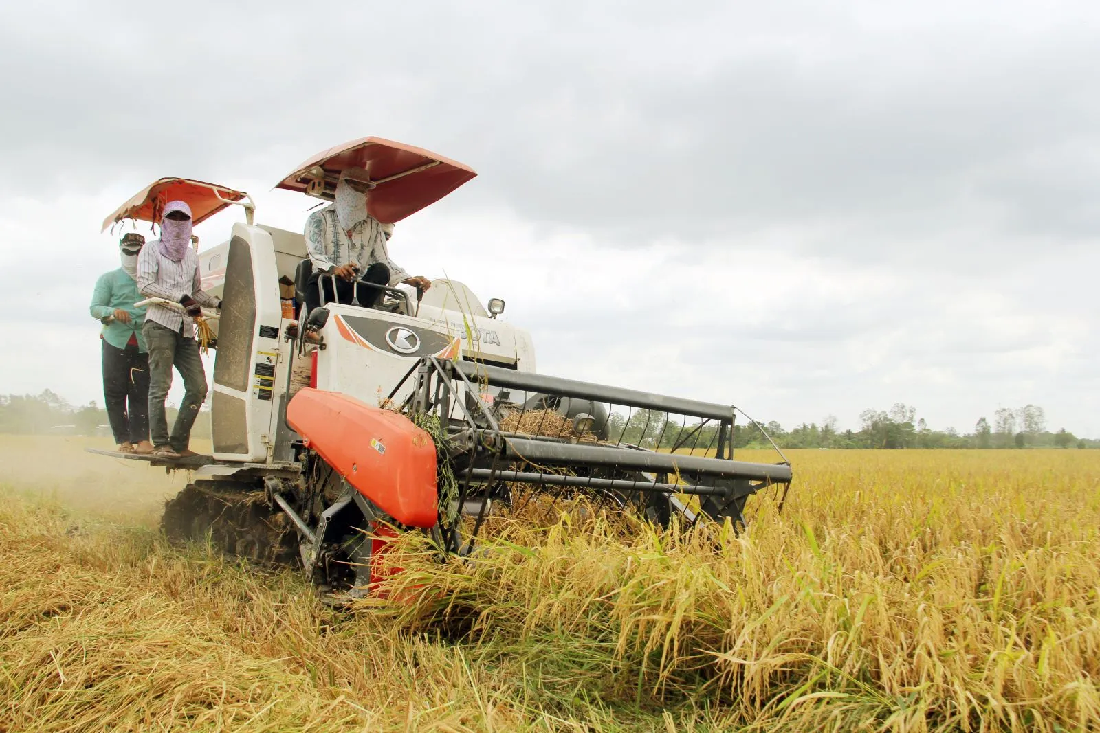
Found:
[(438, 153), (382, 137), (361, 137), (312, 156), (275, 188), (324, 201), (336, 198), (337, 181), (348, 168), (370, 175), (367, 212), (384, 224), (398, 222), (459, 188), (477, 174)]

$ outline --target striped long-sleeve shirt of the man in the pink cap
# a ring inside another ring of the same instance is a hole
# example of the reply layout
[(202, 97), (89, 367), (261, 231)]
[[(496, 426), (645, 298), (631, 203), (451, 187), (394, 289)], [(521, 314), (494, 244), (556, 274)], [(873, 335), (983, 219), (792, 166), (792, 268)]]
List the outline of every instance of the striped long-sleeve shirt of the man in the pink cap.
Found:
[[(178, 303), (185, 295), (190, 296), (199, 306), (216, 308), (218, 299), (207, 293), (200, 287), (199, 256), (187, 247), (184, 258), (174, 263), (161, 253), (161, 241), (153, 240), (141, 248), (138, 256), (138, 289), (146, 298), (164, 298)], [(166, 329), (179, 332), (184, 336), (195, 337), (195, 322), (175, 308), (167, 306), (150, 306), (145, 312), (146, 321), (154, 321)]]

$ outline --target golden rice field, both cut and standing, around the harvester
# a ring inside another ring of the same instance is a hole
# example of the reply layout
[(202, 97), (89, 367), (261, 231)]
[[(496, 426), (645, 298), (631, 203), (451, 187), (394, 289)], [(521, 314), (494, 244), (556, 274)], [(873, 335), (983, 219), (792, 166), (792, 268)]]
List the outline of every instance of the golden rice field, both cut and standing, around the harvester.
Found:
[(0, 440), (0, 731), (1100, 730), (1098, 451), (793, 451), (739, 536), (409, 537), (346, 612), (84, 445)]

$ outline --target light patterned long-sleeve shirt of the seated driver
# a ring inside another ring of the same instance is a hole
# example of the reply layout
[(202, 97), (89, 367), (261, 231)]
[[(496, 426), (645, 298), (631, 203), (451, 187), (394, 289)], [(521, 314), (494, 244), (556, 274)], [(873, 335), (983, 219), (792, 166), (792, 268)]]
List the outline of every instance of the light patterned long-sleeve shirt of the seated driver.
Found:
[(306, 249), (314, 260), (315, 270), (329, 271), (354, 263), (359, 265), (360, 274), (363, 274), (374, 263), (383, 263), (389, 267), (389, 285), (397, 285), (411, 277), (389, 258), (382, 222), (369, 216), (366, 221), (355, 225), (349, 237), (337, 221), (334, 204), (315, 211), (306, 219)]

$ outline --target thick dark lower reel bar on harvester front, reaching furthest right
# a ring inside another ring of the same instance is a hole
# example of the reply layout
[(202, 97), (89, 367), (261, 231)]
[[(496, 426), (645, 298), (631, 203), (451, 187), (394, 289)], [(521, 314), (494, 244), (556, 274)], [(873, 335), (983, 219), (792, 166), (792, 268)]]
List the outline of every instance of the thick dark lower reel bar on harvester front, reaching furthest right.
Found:
[(507, 437), (505, 454), (532, 464), (617, 466), (656, 474), (688, 474), (716, 478), (740, 478), (767, 484), (788, 484), (791, 467), (784, 464), (757, 464), (725, 458), (634, 451), (603, 445), (557, 443)]

